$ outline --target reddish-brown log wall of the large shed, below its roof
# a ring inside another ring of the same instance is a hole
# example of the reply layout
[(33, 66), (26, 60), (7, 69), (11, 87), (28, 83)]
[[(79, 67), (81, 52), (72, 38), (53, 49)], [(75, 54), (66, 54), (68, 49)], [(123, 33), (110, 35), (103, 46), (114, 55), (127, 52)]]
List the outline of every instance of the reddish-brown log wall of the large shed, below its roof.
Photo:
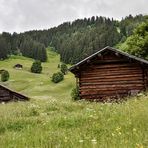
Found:
[(79, 75), (80, 96), (84, 99), (119, 99), (145, 89), (139, 63), (106, 56), (83, 69)]

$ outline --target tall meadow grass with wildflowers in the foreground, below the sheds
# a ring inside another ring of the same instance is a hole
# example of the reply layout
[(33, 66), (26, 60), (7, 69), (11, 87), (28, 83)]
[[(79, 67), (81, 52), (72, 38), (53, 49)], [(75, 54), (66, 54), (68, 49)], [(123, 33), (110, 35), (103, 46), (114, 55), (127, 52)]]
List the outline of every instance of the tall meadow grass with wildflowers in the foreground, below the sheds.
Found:
[(148, 96), (122, 104), (32, 99), (0, 105), (1, 147), (148, 147)]

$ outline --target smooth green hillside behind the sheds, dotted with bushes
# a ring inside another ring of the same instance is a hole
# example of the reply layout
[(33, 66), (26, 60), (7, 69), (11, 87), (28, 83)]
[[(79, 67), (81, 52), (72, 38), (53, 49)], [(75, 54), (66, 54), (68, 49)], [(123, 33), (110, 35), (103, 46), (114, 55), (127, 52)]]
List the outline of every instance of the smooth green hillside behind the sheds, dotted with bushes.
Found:
[[(18, 63), (23, 65), (23, 70), (13, 68)], [(60, 63), (58, 54), (48, 51), (48, 62), (42, 63), (42, 74), (30, 72), (32, 63), (32, 59), (21, 56), (11, 56), (5, 61), (0, 61), (0, 69), (6, 69), (10, 73), (9, 82), (3, 83), (3, 85), (24, 93), (31, 98), (50, 99), (51, 97), (56, 97), (60, 99), (61, 97), (67, 98), (69, 96), (75, 83), (72, 74), (66, 75), (64, 81), (59, 84), (51, 82), (52, 74), (60, 70), (57, 68)]]

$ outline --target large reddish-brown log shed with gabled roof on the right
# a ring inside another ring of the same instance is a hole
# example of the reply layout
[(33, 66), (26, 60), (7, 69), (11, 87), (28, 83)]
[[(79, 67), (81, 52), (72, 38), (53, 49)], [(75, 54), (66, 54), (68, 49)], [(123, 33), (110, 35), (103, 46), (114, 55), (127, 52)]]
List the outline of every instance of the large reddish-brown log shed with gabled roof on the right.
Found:
[(148, 87), (148, 61), (112, 47), (99, 50), (70, 71), (81, 99), (118, 100)]

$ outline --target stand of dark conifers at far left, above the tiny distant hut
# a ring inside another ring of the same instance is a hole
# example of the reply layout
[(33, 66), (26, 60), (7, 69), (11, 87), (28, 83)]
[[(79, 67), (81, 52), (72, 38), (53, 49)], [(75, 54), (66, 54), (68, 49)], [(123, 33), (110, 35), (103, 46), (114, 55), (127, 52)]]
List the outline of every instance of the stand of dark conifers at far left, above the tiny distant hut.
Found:
[(0, 35), (0, 59), (6, 59), (9, 55), (23, 55), (42, 62), (47, 61), (45, 45), (33, 40), (28, 35), (3, 32)]

